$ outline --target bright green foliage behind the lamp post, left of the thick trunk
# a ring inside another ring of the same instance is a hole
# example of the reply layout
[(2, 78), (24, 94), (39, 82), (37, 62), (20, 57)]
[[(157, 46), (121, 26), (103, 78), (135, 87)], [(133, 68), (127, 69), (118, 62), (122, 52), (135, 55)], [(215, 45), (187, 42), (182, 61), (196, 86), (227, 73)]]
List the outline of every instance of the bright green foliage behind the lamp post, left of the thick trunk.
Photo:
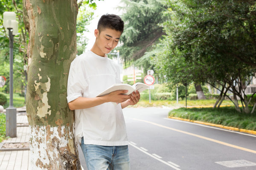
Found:
[(9, 32), (3, 28), (3, 12), (14, 11), (18, 21), (18, 34), (14, 37), (13, 48), (13, 80), (14, 91), (21, 92), (25, 85), (25, 73), (23, 66), (26, 65), (26, 50), (28, 43), (28, 33), (23, 23), (23, 3), (22, 1), (0, 2), (0, 76), (5, 76), (7, 81), (1, 92), (9, 92)]

